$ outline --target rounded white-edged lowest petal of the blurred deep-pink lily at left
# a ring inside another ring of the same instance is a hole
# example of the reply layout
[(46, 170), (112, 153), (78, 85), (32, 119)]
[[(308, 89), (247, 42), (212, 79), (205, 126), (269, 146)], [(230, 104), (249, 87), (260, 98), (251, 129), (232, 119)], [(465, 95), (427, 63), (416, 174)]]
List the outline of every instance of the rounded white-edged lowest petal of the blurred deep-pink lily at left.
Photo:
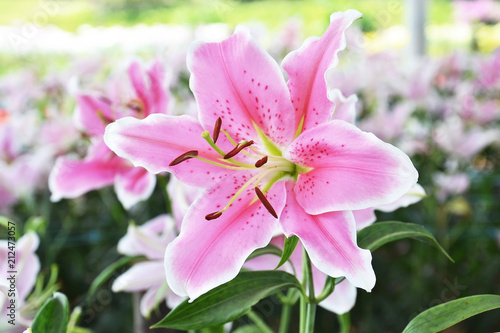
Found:
[(115, 192), (125, 209), (148, 199), (156, 185), (156, 176), (141, 167), (131, 167), (116, 175)]

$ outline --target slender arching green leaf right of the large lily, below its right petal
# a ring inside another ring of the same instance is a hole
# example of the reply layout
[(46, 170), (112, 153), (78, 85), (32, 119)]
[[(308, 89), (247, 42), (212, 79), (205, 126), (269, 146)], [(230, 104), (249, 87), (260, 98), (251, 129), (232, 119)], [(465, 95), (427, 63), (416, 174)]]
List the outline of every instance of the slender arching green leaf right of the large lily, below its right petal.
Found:
[(370, 251), (403, 238), (426, 241), (438, 248), (450, 261), (455, 262), (439, 245), (430, 231), (418, 224), (393, 221), (377, 222), (358, 231), (358, 245)]

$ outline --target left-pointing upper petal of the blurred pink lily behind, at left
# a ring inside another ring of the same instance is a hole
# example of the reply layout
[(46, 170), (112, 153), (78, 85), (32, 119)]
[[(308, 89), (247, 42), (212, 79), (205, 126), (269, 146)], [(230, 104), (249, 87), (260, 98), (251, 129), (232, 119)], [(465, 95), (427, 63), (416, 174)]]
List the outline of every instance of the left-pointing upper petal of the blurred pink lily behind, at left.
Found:
[(78, 95), (77, 107), (73, 115), (75, 126), (90, 135), (101, 136), (106, 125), (116, 119), (111, 109), (111, 101), (97, 95)]

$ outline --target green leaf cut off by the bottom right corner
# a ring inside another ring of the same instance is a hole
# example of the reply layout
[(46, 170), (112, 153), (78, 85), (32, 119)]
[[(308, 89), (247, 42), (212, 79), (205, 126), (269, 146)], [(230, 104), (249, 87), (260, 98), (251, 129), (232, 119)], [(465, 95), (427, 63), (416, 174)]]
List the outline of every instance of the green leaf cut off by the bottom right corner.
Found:
[(403, 333), (436, 333), (481, 312), (499, 309), (500, 296), (476, 295), (430, 308), (406, 326)]

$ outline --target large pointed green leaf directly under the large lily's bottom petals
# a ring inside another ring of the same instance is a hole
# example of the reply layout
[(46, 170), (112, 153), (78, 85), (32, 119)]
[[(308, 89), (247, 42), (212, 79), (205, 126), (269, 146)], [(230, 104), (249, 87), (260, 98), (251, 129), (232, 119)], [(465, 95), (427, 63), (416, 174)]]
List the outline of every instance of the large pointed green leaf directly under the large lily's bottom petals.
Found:
[(264, 297), (292, 287), (300, 288), (300, 283), (286, 272), (241, 272), (192, 303), (184, 301), (153, 328), (198, 330), (223, 325), (244, 315)]

